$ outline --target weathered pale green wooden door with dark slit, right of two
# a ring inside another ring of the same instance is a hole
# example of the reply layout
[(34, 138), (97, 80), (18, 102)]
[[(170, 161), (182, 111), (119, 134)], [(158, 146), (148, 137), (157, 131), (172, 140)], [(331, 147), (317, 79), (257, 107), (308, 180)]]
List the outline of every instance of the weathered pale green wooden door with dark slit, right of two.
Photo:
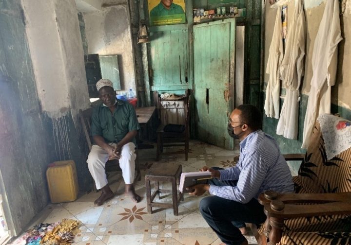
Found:
[(233, 149), (227, 132), (234, 104), (235, 19), (194, 26), (196, 136)]

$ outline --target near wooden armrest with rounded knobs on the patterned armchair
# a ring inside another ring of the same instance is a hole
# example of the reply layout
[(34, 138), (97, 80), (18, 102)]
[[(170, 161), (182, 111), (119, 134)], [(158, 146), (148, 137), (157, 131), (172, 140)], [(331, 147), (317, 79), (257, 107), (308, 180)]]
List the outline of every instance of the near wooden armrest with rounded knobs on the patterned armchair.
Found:
[[(277, 194), (273, 200), (267, 197), (272, 196), (261, 194), (259, 201), (265, 213), (274, 218), (351, 214), (351, 192)], [(304, 203), (311, 205), (296, 205)]]

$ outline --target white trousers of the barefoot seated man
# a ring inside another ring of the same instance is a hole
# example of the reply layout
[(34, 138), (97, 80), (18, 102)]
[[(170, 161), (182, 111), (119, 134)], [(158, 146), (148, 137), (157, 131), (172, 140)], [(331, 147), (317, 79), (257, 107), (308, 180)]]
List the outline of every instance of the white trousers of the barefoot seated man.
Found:
[[(116, 146), (115, 143), (109, 145)], [(133, 184), (135, 175), (135, 144), (129, 142), (122, 146), (119, 167), (122, 169), (122, 176), (126, 184)], [(93, 176), (97, 190), (107, 185), (105, 164), (108, 160), (108, 153), (98, 145), (93, 145), (88, 156), (88, 168)]]

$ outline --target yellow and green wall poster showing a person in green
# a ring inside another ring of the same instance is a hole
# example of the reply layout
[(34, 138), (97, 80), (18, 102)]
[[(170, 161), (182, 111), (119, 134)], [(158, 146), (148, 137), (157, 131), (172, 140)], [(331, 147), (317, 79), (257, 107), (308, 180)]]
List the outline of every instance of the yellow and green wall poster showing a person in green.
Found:
[(185, 0), (148, 0), (150, 25), (171, 25), (186, 22)]

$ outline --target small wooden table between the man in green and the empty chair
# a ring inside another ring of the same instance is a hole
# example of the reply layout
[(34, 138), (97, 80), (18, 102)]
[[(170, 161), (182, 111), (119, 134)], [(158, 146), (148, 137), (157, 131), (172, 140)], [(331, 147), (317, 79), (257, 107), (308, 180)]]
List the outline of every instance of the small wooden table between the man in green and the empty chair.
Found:
[[(153, 140), (153, 120), (152, 117), (156, 113), (156, 106), (138, 107), (136, 108), (137, 121), (141, 127), (139, 140)], [(139, 148), (154, 148), (152, 145), (142, 144)]]

